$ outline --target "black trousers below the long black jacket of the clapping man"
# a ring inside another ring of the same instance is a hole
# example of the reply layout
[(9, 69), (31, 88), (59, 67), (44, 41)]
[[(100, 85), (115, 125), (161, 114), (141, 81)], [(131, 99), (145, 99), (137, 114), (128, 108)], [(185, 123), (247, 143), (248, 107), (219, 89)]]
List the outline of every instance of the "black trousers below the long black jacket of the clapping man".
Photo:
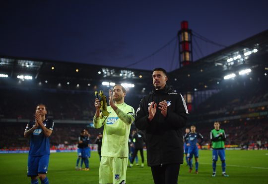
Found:
[(180, 164), (151, 167), (154, 184), (178, 184)]

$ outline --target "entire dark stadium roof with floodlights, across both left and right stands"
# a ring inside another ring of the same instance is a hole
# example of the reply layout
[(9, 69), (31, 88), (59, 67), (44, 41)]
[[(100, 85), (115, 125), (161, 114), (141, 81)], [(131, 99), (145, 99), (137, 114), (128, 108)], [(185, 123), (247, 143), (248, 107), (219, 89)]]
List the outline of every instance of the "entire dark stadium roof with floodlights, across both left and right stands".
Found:
[[(267, 61), (268, 30), (170, 72), (168, 83), (180, 92), (218, 89), (224, 84), (225, 75), (234, 73), (238, 77), (238, 72), (243, 69), (252, 70), (251, 78), (264, 77)], [(61, 88), (77, 89), (79, 84), (80, 90), (95, 90), (102, 82), (113, 82), (132, 83), (135, 92), (143, 88), (151, 90), (151, 71), (100, 65), (0, 56), (1, 74), (8, 75), (9, 79), (5, 80), (8, 85), (17, 85), (17, 76), (27, 75), (34, 79), (31, 84), (47, 88), (58, 88), (61, 84)], [(3, 81), (0, 80), (0, 84), (4, 84)]]

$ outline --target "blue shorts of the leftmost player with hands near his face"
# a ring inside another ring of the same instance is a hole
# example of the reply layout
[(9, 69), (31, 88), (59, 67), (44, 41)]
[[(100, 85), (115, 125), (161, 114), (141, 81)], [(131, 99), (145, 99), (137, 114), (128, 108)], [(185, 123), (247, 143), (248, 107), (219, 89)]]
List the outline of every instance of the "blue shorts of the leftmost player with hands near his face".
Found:
[(28, 177), (36, 177), (38, 174), (47, 174), (48, 173), (48, 163), (49, 155), (43, 156), (28, 156)]

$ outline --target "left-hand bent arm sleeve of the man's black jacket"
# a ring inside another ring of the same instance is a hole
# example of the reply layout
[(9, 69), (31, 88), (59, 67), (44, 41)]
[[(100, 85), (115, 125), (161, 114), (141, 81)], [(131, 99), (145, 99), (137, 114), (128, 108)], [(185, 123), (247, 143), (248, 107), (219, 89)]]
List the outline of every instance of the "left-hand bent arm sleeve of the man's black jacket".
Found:
[(139, 130), (145, 130), (151, 122), (148, 117), (149, 113), (147, 112), (146, 106), (145, 106), (145, 100), (142, 98), (139, 102), (139, 107), (136, 111), (136, 117), (134, 124)]

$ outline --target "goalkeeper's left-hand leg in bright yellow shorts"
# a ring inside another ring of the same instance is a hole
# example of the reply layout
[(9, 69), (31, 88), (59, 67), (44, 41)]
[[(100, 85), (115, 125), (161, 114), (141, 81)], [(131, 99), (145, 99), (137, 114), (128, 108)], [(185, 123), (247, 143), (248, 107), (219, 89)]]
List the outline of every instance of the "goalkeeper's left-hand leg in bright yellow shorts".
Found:
[(113, 184), (113, 157), (101, 157), (99, 168), (99, 184)]

